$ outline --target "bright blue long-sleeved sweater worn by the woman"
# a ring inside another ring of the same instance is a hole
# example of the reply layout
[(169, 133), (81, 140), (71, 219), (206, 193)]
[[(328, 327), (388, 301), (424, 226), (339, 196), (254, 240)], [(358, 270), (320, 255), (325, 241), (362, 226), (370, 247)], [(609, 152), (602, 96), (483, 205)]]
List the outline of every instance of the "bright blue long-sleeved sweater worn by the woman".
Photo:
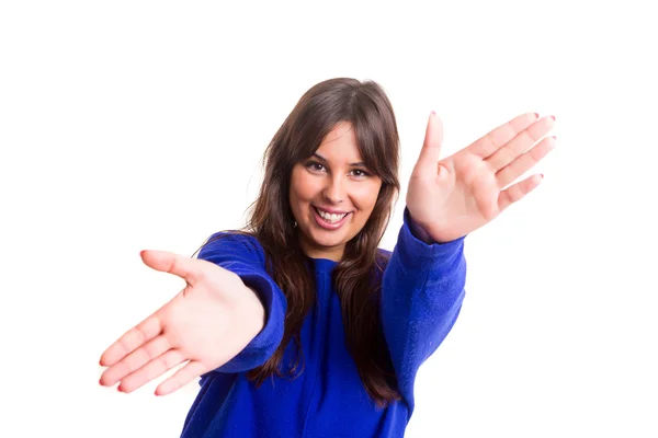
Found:
[[(413, 412), (418, 368), (451, 331), (464, 299), (464, 239), (428, 245), (410, 232), (408, 211), (382, 277), (382, 324), (402, 400), (375, 407), (345, 345), (331, 272), (313, 261), (318, 303), (302, 327), (304, 371), (296, 379), (268, 379), (260, 388), (246, 371), (262, 365), (283, 336), (286, 300), (265, 273), (262, 246), (234, 234), (205, 245), (198, 258), (231, 270), (265, 307), (263, 330), (220, 368), (202, 376), (183, 426), (183, 438), (402, 437)], [(294, 357), (290, 343), (284, 360)], [(292, 355), (292, 356), (291, 356)]]

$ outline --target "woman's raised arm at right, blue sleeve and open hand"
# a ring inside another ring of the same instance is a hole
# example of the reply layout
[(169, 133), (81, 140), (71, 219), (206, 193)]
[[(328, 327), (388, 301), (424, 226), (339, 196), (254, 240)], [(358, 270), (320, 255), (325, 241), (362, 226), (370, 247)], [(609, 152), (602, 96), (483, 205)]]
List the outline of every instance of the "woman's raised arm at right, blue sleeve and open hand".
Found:
[(464, 239), (542, 182), (532, 175), (514, 183), (554, 148), (555, 137), (544, 137), (554, 122), (522, 114), (439, 160), (443, 126), (430, 115), (405, 223), (382, 279), (383, 330), (411, 408), (418, 367), (445, 338), (464, 300)]

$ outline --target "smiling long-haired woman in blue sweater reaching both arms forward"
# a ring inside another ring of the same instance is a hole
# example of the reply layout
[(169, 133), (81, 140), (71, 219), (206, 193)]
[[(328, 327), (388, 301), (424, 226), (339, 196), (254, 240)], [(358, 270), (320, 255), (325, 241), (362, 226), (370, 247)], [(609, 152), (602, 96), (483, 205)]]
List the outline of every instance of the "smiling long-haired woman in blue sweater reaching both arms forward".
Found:
[(188, 286), (105, 350), (101, 384), (132, 392), (186, 362), (156, 389), (201, 376), (183, 437), (401, 437), (418, 368), (462, 307), (465, 237), (540, 184), (507, 187), (553, 148), (553, 124), (523, 114), (439, 160), (432, 113), (389, 253), (390, 103), (371, 81), (318, 83), (268, 147), (245, 230), (198, 258), (141, 253)]

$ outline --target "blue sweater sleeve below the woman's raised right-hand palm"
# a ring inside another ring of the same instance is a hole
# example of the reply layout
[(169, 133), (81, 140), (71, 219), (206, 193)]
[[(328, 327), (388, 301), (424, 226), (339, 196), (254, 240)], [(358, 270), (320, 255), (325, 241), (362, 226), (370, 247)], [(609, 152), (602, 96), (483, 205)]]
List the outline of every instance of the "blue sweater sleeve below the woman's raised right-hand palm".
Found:
[(419, 367), (452, 330), (464, 300), (465, 237), (426, 244), (409, 229), (409, 212), (382, 277), (382, 326), (398, 390), (413, 411)]

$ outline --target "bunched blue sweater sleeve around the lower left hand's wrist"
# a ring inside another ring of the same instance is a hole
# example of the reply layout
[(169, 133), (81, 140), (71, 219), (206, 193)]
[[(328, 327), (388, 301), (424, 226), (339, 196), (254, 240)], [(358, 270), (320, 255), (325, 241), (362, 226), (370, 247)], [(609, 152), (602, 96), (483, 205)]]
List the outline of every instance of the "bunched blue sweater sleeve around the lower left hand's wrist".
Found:
[[(219, 239), (217, 239), (222, 234)], [(231, 360), (217, 368), (218, 372), (249, 371), (264, 364), (283, 338), (286, 300), (274, 280), (265, 272), (265, 255), (254, 238), (241, 234), (215, 233), (198, 252), (205, 260), (237, 274), (246, 286), (253, 289), (265, 310), (261, 332)]]

